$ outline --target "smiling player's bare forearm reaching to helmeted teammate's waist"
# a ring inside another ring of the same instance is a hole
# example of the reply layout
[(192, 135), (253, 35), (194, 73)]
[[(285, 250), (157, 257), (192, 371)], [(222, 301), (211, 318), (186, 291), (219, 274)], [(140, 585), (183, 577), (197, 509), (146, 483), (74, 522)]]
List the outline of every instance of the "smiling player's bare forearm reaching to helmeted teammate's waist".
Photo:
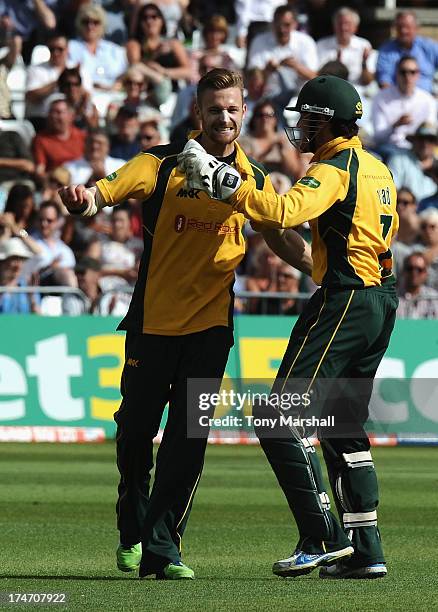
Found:
[(269, 248), (283, 261), (312, 276), (312, 251), (298, 232), (292, 229), (263, 229), (262, 234)]

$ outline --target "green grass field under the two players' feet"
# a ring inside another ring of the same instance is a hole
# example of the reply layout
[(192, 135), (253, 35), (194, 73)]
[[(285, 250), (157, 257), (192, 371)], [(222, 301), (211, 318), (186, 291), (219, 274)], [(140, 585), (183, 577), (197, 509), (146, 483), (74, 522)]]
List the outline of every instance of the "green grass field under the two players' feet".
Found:
[[(374, 450), (389, 574), (376, 581), (271, 574), (296, 532), (258, 447), (210, 447), (184, 540), (194, 582), (115, 569), (114, 447), (0, 445), (0, 591), (63, 592), (39, 610), (437, 610), (438, 451)], [(7, 606), (29, 609), (34, 605)]]

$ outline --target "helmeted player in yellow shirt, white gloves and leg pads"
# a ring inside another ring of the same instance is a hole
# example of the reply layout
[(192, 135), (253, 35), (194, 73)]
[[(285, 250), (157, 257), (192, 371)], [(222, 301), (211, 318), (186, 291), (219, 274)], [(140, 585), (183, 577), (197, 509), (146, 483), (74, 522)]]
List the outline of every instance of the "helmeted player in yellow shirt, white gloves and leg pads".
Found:
[[(257, 432), (299, 530), (292, 555), (274, 563), (279, 576), (321, 567), (324, 578), (379, 578), (387, 573), (377, 528), (378, 489), (364, 430), (372, 381), (388, 346), (397, 297), (390, 244), (397, 232), (396, 189), (386, 166), (364, 151), (354, 87), (334, 76), (299, 93), (289, 140), (314, 154), (307, 175), (283, 195), (253, 183), (189, 141), (180, 156), (188, 185), (227, 202), (234, 212), (272, 228), (309, 221), (313, 279), (320, 289), (299, 317), (273, 393), (317, 391), (345, 379), (332, 414), (343, 433), (318, 429), (341, 525), (330, 511), (315, 449), (302, 428), (287, 437)], [(321, 382), (324, 381), (324, 382)], [(305, 416), (305, 410), (299, 413)]]

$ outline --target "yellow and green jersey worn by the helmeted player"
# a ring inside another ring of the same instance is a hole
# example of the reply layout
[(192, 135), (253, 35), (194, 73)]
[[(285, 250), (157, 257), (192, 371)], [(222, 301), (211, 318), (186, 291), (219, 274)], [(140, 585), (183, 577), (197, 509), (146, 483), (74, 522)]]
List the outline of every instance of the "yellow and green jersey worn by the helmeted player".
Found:
[(388, 168), (359, 138), (336, 138), (287, 194), (257, 191), (243, 181), (230, 198), (249, 219), (276, 228), (309, 221), (313, 280), (325, 287), (371, 287), (392, 275), (397, 233), (396, 188)]

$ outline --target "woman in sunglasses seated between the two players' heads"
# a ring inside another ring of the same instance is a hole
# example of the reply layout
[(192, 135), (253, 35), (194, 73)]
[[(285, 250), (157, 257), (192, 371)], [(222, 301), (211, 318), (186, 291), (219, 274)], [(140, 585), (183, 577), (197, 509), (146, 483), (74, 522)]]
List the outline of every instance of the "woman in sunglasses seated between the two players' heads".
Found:
[(262, 163), (269, 172), (282, 172), (294, 182), (304, 174), (300, 154), (290, 147), (283, 130), (278, 129), (275, 108), (269, 100), (254, 107), (248, 134), (239, 139), (246, 153)]

